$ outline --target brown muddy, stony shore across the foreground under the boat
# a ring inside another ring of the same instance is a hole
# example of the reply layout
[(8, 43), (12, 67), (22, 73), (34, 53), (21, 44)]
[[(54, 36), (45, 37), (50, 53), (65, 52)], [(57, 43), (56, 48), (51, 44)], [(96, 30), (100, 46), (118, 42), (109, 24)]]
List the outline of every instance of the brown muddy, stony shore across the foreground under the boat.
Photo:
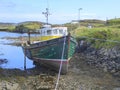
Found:
[[(54, 90), (57, 73), (45, 67), (22, 71), (0, 68), (0, 90)], [(61, 75), (58, 90), (119, 90), (120, 78), (86, 64), (82, 54), (75, 54), (69, 71)]]

